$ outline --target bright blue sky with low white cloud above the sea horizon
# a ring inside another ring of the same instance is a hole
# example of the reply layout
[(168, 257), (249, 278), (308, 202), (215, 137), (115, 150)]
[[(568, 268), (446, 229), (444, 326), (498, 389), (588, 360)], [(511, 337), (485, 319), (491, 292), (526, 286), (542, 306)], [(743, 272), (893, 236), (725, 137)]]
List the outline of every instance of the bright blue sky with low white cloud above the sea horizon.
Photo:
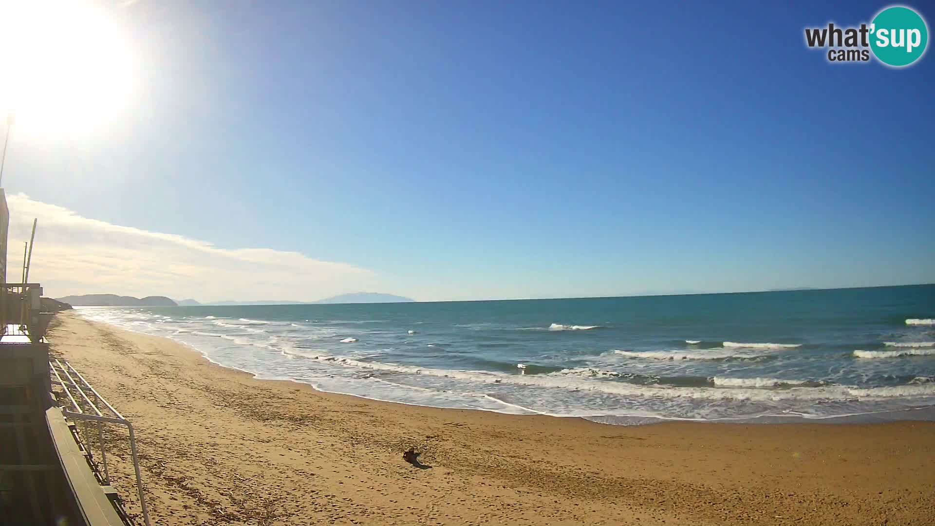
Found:
[(803, 37), (886, 5), (97, 4), (125, 53), (41, 93), (120, 91), (18, 115), (10, 260), (36, 217), (53, 297), (932, 283), (935, 56), (834, 65)]

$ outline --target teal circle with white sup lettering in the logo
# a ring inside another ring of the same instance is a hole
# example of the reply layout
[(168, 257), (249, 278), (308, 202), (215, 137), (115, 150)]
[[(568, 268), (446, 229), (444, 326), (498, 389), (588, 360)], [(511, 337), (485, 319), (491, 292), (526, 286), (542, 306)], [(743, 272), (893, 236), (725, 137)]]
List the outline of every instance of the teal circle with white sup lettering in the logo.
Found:
[(928, 45), (928, 26), (909, 7), (886, 7), (871, 22), (870, 49), (888, 66), (909, 66)]

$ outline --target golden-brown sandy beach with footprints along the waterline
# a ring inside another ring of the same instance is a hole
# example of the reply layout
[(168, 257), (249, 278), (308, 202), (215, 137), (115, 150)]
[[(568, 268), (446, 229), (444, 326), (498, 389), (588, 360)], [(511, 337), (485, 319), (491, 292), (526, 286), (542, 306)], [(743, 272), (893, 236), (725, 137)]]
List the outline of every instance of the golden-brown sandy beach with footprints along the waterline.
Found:
[(935, 524), (935, 422), (615, 427), (255, 380), (74, 313), (49, 340), (134, 423), (153, 524)]

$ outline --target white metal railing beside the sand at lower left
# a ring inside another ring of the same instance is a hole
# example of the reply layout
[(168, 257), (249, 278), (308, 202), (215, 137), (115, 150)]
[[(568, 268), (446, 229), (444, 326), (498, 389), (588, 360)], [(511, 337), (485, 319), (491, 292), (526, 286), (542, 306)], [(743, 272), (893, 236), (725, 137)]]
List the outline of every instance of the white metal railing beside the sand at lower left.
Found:
[[(75, 368), (71, 366), (70, 363), (65, 360), (60, 361), (57, 358), (52, 358), (49, 360), (49, 368), (51, 375), (58, 381), (58, 384), (62, 386), (65, 391), (65, 396), (67, 396), (68, 400), (71, 402), (71, 406), (75, 409), (75, 411), (71, 411), (63, 407), (62, 414), (75, 420), (97, 422), (97, 440), (100, 444), (101, 460), (104, 464), (103, 482), (105, 484), (110, 484), (110, 472), (108, 470), (107, 452), (104, 446), (104, 430), (101, 424), (108, 423), (126, 426), (126, 429), (130, 434), (130, 454), (133, 457), (133, 469), (137, 474), (139, 505), (143, 510), (143, 520), (146, 522), (146, 526), (150, 526), (150, 514), (146, 509), (146, 497), (143, 495), (143, 481), (139, 476), (137, 439), (133, 434), (133, 425), (126, 418), (124, 418), (119, 411), (114, 409), (114, 407), (110, 405), (110, 403), (105, 400), (104, 397), (102, 397), (94, 389), (94, 387), (92, 387), (91, 384), (89, 384), (88, 381), (85, 380), (83, 376), (81, 376), (81, 373), (76, 371)], [(78, 398), (76, 398), (76, 396)], [(92, 402), (92, 398), (94, 398), (94, 402)], [(98, 408), (99, 403), (103, 404), (105, 409), (108, 410), (112, 416), (106, 416), (104, 413), (102, 413)], [(86, 413), (84, 409), (82, 409), (82, 404), (85, 408), (89, 409), (91, 413)]]

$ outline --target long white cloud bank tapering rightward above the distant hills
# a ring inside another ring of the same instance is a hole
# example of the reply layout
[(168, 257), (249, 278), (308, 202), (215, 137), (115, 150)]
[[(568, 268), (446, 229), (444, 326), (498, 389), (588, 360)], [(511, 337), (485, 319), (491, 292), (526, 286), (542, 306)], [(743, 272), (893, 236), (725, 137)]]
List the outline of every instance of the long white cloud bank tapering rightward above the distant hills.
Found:
[(37, 218), (29, 281), (47, 295), (112, 293), (181, 300), (318, 300), (367, 290), (374, 273), (268, 248), (219, 248), (177, 234), (82, 217), (23, 194), (10, 211), (7, 281), (22, 278), (23, 241)]

